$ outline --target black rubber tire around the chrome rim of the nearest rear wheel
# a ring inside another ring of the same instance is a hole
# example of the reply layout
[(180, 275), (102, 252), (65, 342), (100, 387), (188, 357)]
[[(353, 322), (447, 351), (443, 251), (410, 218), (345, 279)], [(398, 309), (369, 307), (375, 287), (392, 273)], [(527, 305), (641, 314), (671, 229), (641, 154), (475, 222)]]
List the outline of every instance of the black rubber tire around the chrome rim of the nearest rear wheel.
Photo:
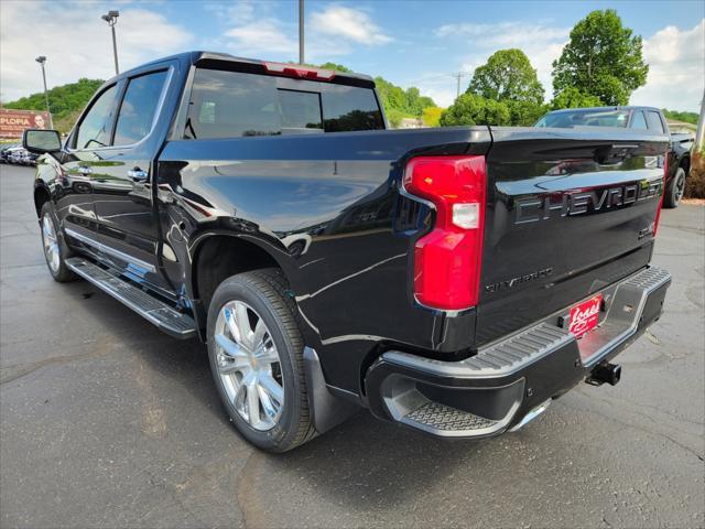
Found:
[[(308, 410), (304, 375), (304, 342), (296, 320), (294, 300), (278, 269), (262, 269), (232, 276), (216, 289), (208, 309), (207, 339), (210, 370), (220, 399), (238, 432), (250, 443), (268, 452), (286, 452), (316, 435)], [(276, 346), (284, 388), (284, 404), (273, 428), (256, 430), (230, 401), (217, 366), (216, 321), (229, 302), (245, 302), (263, 320)]]

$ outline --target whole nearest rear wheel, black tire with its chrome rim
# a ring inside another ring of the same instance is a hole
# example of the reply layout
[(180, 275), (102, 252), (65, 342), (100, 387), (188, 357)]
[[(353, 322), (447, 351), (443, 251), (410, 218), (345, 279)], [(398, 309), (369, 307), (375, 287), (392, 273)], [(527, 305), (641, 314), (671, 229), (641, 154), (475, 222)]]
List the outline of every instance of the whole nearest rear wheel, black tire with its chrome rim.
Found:
[(238, 432), (269, 452), (313, 439), (303, 337), (288, 284), (276, 269), (226, 279), (208, 309), (208, 357)]

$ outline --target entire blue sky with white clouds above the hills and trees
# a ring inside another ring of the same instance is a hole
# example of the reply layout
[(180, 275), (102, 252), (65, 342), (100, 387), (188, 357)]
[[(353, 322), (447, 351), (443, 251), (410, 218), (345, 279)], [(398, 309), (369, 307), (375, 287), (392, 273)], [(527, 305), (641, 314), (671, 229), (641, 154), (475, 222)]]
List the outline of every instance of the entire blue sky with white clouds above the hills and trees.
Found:
[[(551, 62), (571, 28), (594, 9), (614, 8), (644, 39), (651, 65), (634, 104), (697, 110), (703, 97), (705, 2), (693, 1), (356, 1), (306, 0), (306, 60), (333, 61), (382, 75), (447, 106), (454, 72), (471, 74), (495, 51), (523, 50), (551, 95)], [(50, 85), (111, 75), (109, 30), (100, 20), (119, 9), (121, 67), (184, 50), (295, 61), (295, 1), (18, 1), (0, 3), (0, 97), (41, 88), (33, 58), (46, 55)], [(26, 30), (28, 10), (41, 13)], [(463, 79), (464, 87), (469, 75)]]

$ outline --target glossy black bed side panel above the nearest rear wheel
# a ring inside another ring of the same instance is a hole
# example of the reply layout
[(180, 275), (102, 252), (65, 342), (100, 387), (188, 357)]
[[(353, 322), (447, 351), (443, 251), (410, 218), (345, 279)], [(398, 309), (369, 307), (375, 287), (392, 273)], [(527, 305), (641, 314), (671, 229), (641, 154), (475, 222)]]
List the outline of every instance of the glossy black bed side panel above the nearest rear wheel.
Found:
[(208, 234), (264, 248), (291, 283), (328, 382), (358, 392), (376, 347), (432, 349), (440, 339), (443, 316), (414, 307), (410, 295), (417, 230), (394, 226), (405, 160), (488, 145), (486, 128), (169, 141), (158, 202), (176, 257), (165, 261), (170, 279), (191, 290), (183, 271)]

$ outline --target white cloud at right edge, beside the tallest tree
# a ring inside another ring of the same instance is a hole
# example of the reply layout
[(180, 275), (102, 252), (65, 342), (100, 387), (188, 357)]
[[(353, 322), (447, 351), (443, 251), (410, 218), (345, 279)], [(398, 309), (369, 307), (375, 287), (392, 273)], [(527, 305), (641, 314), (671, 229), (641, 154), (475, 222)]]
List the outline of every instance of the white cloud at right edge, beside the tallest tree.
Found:
[(705, 19), (690, 30), (669, 25), (643, 42), (649, 64), (647, 85), (633, 105), (698, 111), (705, 88)]

